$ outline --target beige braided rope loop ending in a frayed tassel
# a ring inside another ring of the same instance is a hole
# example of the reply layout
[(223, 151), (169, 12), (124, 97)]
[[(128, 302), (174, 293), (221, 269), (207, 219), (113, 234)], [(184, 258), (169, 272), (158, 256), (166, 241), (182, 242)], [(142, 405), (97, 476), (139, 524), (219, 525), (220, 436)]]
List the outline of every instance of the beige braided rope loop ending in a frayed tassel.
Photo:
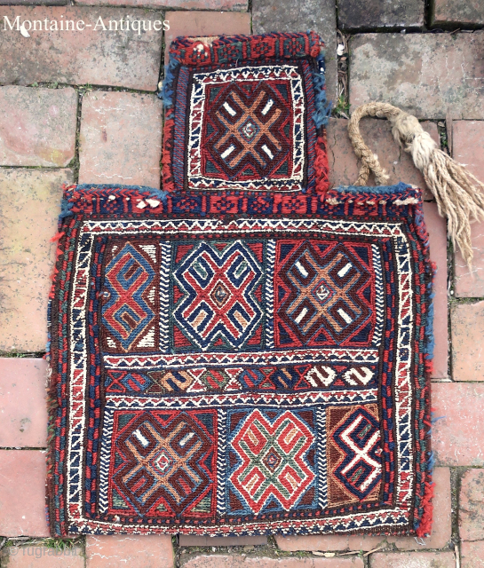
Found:
[(373, 171), (377, 185), (385, 185), (388, 176), (361, 138), (358, 123), (363, 116), (387, 118), (392, 123), (393, 138), (412, 155), (413, 161), (424, 174), (425, 183), (435, 197), (442, 217), (448, 218), (448, 233), (464, 257), (472, 265), (471, 221), (484, 219), (484, 184), (463, 165), (442, 152), (424, 131), (417, 118), (386, 103), (369, 103), (359, 106), (348, 124), (354, 152), (361, 159), (360, 175), (355, 185), (366, 185)]

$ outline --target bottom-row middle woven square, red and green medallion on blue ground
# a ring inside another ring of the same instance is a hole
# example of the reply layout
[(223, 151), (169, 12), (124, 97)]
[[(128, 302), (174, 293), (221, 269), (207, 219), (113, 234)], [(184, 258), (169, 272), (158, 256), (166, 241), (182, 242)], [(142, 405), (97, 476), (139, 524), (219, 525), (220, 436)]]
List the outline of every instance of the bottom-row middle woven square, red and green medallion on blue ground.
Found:
[(227, 508), (242, 511), (315, 505), (314, 412), (264, 409), (230, 413)]

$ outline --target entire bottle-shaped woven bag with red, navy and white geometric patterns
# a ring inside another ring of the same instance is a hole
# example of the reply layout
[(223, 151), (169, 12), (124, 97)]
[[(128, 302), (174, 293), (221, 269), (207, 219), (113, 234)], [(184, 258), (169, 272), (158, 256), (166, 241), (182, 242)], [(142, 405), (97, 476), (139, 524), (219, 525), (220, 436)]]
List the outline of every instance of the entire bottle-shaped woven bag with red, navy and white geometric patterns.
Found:
[(422, 195), (328, 188), (320, 49), (179, 39), (170, 191), (65, 188), (52, 534), (429, 532)]

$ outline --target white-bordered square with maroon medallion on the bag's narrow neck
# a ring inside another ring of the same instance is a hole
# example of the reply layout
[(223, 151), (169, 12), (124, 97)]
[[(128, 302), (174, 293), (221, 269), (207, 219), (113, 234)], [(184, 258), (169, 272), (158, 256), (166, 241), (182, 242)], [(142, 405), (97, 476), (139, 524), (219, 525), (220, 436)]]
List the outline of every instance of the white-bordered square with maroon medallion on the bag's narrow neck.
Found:
[[(186, 177), (190, 189), (300, 190), (307, 184), (305, 66), (235, 67), (193, 75)], [(177, 169), (176, 167), (174, 168)]]

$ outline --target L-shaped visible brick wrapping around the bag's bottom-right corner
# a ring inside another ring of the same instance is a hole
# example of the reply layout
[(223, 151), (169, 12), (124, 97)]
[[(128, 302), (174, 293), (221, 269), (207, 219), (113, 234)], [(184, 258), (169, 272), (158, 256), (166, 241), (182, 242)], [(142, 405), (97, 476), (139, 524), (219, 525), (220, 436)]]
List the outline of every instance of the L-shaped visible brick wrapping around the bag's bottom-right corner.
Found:
[[(432, 501), (432, 534), (430, 537), (423, 539), (424, 547), (444, 548), (452, 536), (450, 470), (448, 468), (434, 468), (432, 481), (435, 484)], [(388, 542), (393, 542), (401, 550), (421, 550), (423, 548), (414, 537), (387, 537), (387, 540)]]

